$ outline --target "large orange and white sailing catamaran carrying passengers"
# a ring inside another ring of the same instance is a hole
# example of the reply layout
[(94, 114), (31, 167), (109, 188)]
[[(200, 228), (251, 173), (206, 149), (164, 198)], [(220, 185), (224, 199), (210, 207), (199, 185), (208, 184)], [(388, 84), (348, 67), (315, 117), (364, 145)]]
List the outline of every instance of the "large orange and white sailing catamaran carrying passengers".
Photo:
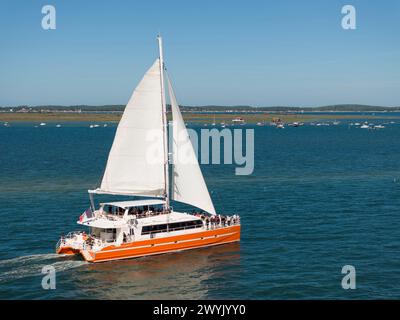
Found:
[[(240, 217), (215, 211), (166, 73), (162, 39), (157, 39), (159, 57), (125, 107), (101, 184), (88, 190), (90, 208), (77, 221), (88, 231), (62, 236), (59, 254), (103, 262), (240, 241)], [(164, 79), (173, 119), (171, 148)], [(100, 203), (96, 209), (96, 194), (135, 198)], [(198, 211), (175, 211), (170, 200)]]

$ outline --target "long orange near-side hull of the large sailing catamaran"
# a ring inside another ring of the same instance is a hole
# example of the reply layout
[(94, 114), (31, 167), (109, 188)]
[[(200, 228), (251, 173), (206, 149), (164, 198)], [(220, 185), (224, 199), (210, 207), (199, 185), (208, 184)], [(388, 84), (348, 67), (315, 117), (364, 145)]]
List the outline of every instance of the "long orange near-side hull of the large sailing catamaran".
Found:
[(240, 225), (185, 235), (135, 241), (120, 246), (113, 245), (97, 252), (81, 250), (80, 253), (86, 261), (103, 262), (202, 248), (236, 241), (240, 241)]

